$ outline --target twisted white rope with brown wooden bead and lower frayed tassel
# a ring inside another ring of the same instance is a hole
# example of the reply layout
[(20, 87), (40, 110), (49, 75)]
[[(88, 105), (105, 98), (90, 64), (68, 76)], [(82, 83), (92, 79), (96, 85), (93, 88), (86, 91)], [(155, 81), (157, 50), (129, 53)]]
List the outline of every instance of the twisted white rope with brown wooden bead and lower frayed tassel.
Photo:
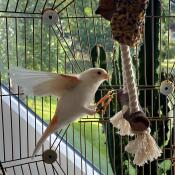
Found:
[(147, 161), (157, 159), (162, 151), (150, 135), (148, 119), (139, 105), (129, 46), (121, 45), (121, 53), (126, 72), (130, 109), (130, 115), (125, 119), (128, 120), (133, 133), (136, 135), (135, 140), (130, 141), (125, 150), (134, 155), (134, 163), (136, 165), (143, 166)]

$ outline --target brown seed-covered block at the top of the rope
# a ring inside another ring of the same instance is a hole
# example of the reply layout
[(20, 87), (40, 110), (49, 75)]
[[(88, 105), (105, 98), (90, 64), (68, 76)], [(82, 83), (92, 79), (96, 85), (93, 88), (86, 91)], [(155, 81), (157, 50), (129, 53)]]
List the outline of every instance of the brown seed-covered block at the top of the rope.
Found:
[(121, 44), (135, 46), (142, 41), (148, 0), (116, 0), (111, 19), (112, 35)]

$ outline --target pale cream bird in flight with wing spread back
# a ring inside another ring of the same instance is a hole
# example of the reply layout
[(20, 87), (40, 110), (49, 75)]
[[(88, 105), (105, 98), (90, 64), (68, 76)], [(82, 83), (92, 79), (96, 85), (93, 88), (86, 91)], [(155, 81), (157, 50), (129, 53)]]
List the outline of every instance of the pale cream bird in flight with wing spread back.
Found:
[(57, 96), (58, 102), (51, 122), (36, 144), (32, 159), (47, 137), (82, 115), (94, 115), (93, 99), (99, 86), (109, 74), (102, 68), (89, 68), (79, 74), (58, 74), (10, 67), (9, 76), (26, 95)]

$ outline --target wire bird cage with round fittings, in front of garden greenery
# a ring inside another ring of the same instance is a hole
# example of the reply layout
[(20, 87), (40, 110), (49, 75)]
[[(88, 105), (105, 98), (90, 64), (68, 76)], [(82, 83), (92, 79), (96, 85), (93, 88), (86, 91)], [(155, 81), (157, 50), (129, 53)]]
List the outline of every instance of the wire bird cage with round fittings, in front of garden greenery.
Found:
[(94, 101), (111, 89), (121, 89), (121, 49), (111, 32), (111, 16), (104, 15), (107, 10), (113, 12), (110, 6), (119, 0), (103, 5), (104, 1), (0, 1), (0, 174), (175, 174), (174, 0), (149, 0), (143, 42), (131, 48), (140, 105), (161, 156), (143, 166), (133, 163), (133, 155), (125, 151), (132, 137), (119, 135), (110, 123), (121, 109), (114, 96), (106, 113), (68, 123), (49, 136), (32, 158), (58, 99), (26, 96), (9, 78), (9, 69), (78, 74), (102, 67), (111, 79), (99, 87)]

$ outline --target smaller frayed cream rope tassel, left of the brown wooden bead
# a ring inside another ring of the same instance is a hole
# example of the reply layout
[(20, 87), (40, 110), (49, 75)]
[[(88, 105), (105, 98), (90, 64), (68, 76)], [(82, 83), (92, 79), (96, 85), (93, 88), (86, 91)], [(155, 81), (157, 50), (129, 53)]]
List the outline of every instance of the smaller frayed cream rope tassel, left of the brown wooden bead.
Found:
[(129, 122), (123, 118), (123, 115), (128, 111), (128, 106), (124, 105), (123, 109), (119, 112), (117, 112), (111, 119), (110, 122), (112, 125), (119, 129), (118, 133), (121, 136), (125, 135), (133, 135), (133, 132), (131, 130), (131, 126)]

